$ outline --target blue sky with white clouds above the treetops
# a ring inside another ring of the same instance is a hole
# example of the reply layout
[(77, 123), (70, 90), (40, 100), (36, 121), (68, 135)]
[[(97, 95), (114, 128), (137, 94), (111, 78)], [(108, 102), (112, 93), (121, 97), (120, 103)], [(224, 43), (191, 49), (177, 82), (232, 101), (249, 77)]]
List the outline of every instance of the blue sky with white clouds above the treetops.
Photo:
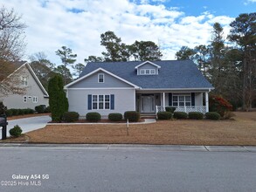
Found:
[(1, 0), (14, 8), (27, 24), (26, 54), (44, 51), (59, 65), (55, 55), (66, 45), (78, 54), (101, 56), (100, 34), (114, 31), (126, 44), (151, 40), (160, 46), (163, 59), (175, 59), (181, 46), (193, 48), (211, 41), (212, 25), (229, 24), (241, 13), (256, 10), (256, 0)]

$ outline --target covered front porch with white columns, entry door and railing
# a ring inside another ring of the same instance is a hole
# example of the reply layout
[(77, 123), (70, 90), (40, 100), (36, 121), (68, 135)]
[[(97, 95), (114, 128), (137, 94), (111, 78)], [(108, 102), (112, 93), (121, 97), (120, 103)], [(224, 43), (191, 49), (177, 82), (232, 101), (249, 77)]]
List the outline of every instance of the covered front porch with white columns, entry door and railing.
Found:
[(136, 93), (136, 111), (147, 114), (164, 112), (166, 106), (176, 107), (176, 112), (209, 112), (208, 92)]

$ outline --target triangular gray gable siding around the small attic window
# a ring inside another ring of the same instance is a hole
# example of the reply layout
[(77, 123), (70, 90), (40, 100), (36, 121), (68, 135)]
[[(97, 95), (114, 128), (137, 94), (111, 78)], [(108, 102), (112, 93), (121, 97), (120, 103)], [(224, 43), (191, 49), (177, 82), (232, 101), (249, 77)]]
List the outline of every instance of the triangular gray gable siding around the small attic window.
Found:
[[(104, 74), (104, 83), (98, 83), (98, 74)], [(69, 88), (90, 88), (90, 87), (133, 87), (128, 85), (127, 83), (121, 81), (120, 79), (116, 79), (113, 76), (107, 74), (106, 72), (96, 72), (86, 79), (82, 79), (77, 82), (73, 86), (69, 86)]]

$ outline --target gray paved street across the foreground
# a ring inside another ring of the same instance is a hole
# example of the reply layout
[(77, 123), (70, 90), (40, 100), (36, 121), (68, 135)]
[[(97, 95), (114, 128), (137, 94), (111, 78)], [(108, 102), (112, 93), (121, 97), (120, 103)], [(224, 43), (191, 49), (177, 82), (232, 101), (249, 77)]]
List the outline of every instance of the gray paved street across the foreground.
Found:
[(0, 191), (256, 189), (255, 147), (15, 146), (0, 146)]

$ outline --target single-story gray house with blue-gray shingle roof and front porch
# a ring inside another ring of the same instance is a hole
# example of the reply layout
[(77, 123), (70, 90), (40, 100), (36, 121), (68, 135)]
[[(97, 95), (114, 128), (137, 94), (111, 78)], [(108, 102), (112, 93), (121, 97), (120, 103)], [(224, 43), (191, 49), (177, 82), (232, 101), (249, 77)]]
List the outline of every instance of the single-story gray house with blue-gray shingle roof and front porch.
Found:
[(65, 86), (69, 111), (157, 113), (209, 111), (213, 86), (191, 60), (88, 63), (79, 79)]

